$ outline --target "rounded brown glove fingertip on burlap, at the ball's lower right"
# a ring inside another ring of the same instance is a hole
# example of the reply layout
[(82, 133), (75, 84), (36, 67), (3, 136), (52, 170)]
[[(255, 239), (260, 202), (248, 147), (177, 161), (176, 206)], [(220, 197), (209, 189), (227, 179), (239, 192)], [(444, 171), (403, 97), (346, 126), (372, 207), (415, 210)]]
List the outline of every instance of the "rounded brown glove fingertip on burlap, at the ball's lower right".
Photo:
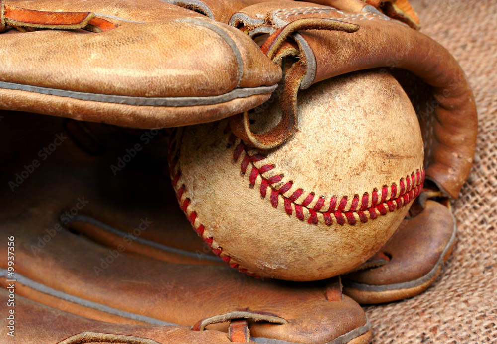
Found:
[(417, 216), (406, 219), (381, 248), (389, 257), (381, 267), (344, 275), (344, 292), (359, 303), (383, 303), (426, 290), (440, 274), (455, 242), (450, 210), (431, 200)]

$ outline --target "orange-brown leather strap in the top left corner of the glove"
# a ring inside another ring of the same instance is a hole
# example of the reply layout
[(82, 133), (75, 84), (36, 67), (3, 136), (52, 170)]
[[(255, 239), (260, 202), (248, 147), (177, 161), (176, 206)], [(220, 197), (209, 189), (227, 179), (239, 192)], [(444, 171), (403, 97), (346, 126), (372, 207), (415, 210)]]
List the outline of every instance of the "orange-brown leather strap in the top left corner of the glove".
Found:
[(96, 18), (92, 12), (45, 12), (5, 5), (0, 0), (0, 32), (7, 26), (19, 31), (34, 29), (83, 29), (103, 32), (116, 26), (105, 19)]

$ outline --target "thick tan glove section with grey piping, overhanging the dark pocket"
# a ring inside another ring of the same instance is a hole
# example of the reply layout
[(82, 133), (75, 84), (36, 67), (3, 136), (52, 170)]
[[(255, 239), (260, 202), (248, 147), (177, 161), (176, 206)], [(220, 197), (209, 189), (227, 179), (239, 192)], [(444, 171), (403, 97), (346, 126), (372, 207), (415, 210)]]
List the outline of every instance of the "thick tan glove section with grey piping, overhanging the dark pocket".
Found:
[(102, 33), (2, 33), (3, 109), (170, 127), (252, 108), (267, 100), (281, 78), (281, 70), (240, 30), (164, 1), (4, 3), (95, 12), (118, 27)]

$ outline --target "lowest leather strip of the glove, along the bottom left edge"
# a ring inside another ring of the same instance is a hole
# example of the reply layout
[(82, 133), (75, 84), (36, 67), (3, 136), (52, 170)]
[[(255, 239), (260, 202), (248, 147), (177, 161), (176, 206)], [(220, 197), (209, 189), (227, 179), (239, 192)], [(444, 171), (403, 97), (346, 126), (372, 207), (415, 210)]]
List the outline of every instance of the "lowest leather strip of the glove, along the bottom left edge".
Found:
[[(8, 314), (10, 294), (0, 289), (0, 312)], [(60, 300), (60, 305), (66, 301)], [(57, 308), (17, 296), (15, 300), (15, 321), (17, 327), (11, 332), (15, 343), (23, 344), (83, 344), (83, 343), (126, 343), (126, 344), (228, 344), (246, 342), (248, 330), (243, 321), (232, 321), (230, 332), (216, 330), (196, 331), (188, 326), (174, 325), (131, 325), (113, 324), (88, 319)], [(7, 329), (9, 331), (9, 329)], [(8, 332), (7, 332), (8, 333)], [(8, 334), (2, 335), (10, 343)]]

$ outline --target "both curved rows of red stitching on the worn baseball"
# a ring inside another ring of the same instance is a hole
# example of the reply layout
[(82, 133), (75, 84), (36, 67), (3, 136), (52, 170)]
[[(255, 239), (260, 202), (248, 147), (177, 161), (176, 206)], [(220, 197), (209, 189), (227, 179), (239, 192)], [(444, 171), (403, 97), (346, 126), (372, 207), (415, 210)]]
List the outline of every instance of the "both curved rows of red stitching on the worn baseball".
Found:
[[(204, 236), (205, 226), (198, 219), (197, 212), (191, 209), (190, 198), (186, 197), (186, 185), (180, 184), (181, 171), (178, 168), (179, 161), (179, 146), (177, 143), (177, 129), (174, 129), (171, 133), (170, 145), (169, 145), (169, 172), (171, 174), (172, 185), (176, 191), (176, 198), (178, 199), (181, 210), (186, 214), (188, 220), (190, 221), (193, 229), (197, 234), (204, 240), (204, 242), (211, 248), (212, 252), (221, 258), (225, 263), (229, 264), (232, 268), (238, 269), (247, 275), (255, 276), (249, 272), (247, 269), (240, 267), (240, 265), (233, 261), (232, 257), (223, 252), (223, 248), (219, 246), (214, 237)], [(239, 141), (237, 144), (235, 144)], [(280, 183), (283, 176), (276, 175), (270, 178), (264, 178), (263, 174), (275, 168), (274, 165), (263, 165), (257, 168), (254, 162), (261, 161), (266, 158), (262, 154), (255, 154), (250, 156), (248, 150), (253, 149), (252, 147), (243, 143), (243, 141), (237, 138), (234, 134), (230, 134), (227, 149), (235, 147), (233, 150), (233, 159), (235, 162), (240, 162), (240, 169), (242, 175), (245, 175), (248, 170), (248, 166), (251, 166), (251, 171), (249, 175), (250, 186), (253, 188), (256, 184), (256, 180), (260, 180), (259, 192), (263, 199), (267, 198), (270, 189), (269, 201), (274, 208), (278, 206), (278, 200), (282, 198), (284, 201), (285, 212), (288, 215), (295, 213), (295, 217), (299, 220), (304, 221), (307, 218), (309, 224), (318, 224), (319, 218), (327, 226), (333, 224), (333, 217), (339, 225), (344, 225), (348, 223), (349, 225), (355, 225), (358, 222), (365, 223), (368, 220), (374, 220), (378, 217), (378, 214), (386, 215), (388, 212), (400, 209), (403, 206), (409, 204), (414, 198), (416, 198), (422, 191), (424, 182), (424, 169), (417, 170), (413, 172), (411, 176), (407, 175), (406, 178), (401, 178), (399, 183), (399, 188), (393, 183), (390, 188), (388, 186), (383, 186), (381, 195), (378, 190), (374, 189), (371, 193), (371, 201), (369, 198), (369, 193), (364, 193), (362, 199), (358, 195), (355, 195), (352, 204), (348, 211), (345, 211), (347, 205), (348, 197), (344, 196), (338, 202), (338, 198), (333, 196), (330, 198), (330, 206), (326, 212), (321, 212), (325, 204), (325, 199), (319, 197), (314, 207), (308, 207), (309, 204), (314, 200), (315, 194), (313, 192), (309, 193), (305, 197), (301, 204), (297, 204), (295, 201), (301, 198), (304, 191), (303, 189), (297, 189), (290, 196), (285, 196), (285, 193), (290, 191), (293, 183), (288, 182), (280, 186), (278, 189), (275, 185)], [(242, 153), (245, 152), (243, 159), (240, 159)], [(399, 189), (399, 190), (398, 190)], [(399, 191), (399, 193), (397, 192)], [(390, 195), (390, 197), (389, 197)], [(371, 203), (370, 203), (371, 202)], [(369, 206), (370, 205), (370, 206)], [(360, 207), (359, 207), (360, 206)], [(307, 210), (308, 214), (304, 214), (304, 209)], [(320, 214), (320, 216), (318, 216)]]

